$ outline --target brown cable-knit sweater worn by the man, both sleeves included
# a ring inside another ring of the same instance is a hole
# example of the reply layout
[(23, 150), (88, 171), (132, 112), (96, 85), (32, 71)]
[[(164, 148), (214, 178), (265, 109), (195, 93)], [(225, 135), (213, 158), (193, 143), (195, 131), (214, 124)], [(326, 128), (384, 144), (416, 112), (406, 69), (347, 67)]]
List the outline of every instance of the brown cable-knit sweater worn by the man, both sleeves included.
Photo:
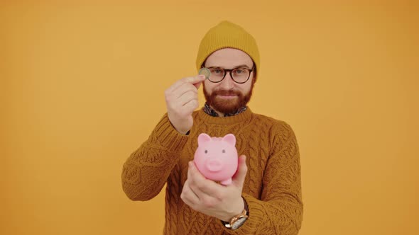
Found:
[[(298, 234), (303, 220), (300, 154), (291, 127), (280, 120), (252, 113), (250, 108), (231, 117), (193, 114), (189, 135), (171, 125), (167, 113), (150, 137), (126, 160), (124, 192), (131, 200), (150, 200), (167, 183), (163, 234)], [(239, 155), (249, 168), (242, 196), (249, 219), (235, 231), (219, 219), (192, 210), (180, 199), (187, 178), (187, 162), (197, 149), (197, 136), (236, 136)]]

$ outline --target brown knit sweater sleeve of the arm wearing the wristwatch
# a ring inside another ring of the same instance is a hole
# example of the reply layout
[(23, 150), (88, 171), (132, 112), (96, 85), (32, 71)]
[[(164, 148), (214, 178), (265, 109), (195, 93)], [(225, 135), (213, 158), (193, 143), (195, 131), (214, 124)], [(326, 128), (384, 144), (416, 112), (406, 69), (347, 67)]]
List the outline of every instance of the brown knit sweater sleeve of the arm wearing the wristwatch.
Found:
[(243, 193), (249, 218), (228, 234), (295, 235), (303, 221), (300, 154), (295, 134), (283, 122), (274, 127), (273, 148), (263, 175), (261, 200)]

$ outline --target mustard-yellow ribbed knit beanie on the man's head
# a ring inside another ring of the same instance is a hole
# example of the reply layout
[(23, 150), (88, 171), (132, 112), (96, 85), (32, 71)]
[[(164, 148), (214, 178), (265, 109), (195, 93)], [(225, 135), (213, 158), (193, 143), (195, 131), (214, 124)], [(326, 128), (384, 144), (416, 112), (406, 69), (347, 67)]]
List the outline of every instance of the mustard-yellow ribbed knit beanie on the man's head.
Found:
[(222, 48), (235, 48), (246, 52), (253, 59), (256, 70), (260, 71), (259, 50), (256, 40), (244, 28), (229, 21), (222, 21), (209, 29), (200, 43), (197, 55), (197, 71), (212, 52)]

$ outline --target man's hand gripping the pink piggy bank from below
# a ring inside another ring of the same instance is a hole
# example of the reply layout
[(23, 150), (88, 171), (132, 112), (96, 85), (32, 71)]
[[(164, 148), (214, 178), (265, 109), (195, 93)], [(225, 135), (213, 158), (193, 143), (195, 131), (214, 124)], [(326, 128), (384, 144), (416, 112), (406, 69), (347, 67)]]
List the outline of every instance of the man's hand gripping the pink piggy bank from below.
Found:
[(202, 176), (193, 161), (190, 161), (180, 198), (193, 210), (229, 222), (244, 210), (241, 192), (246, 173), (246, 156), (242, 155), (239, 157), (239, 168), (233, 176), (232, 184), (219, 185)]

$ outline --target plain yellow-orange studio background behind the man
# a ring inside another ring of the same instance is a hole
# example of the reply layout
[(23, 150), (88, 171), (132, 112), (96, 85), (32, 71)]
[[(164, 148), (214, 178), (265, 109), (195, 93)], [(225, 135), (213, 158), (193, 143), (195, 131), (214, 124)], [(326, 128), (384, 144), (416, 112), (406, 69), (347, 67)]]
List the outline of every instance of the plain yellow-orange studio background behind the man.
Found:
[(417, 1), (20, 2), (0, 4), (0, 234), (161, 234), (164, 193), (131, 202), (121, 168), (224, 19), (259, 44), (251, 109), (297, 134), (300, 234), (418, 234)]

